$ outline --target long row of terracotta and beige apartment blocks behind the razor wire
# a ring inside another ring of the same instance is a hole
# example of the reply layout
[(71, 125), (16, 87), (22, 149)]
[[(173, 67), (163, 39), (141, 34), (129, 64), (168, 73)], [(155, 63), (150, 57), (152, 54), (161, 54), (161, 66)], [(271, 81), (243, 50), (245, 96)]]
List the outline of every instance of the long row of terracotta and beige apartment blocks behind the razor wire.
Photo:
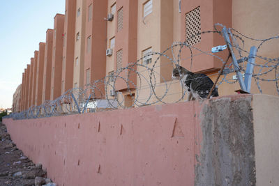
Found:
[[(212, 47), (225, 45), (225, 40), (218, 33), (204, 33), (190, 39), (193, 33), (214, 31), (214, 24), (220, 23), (232, 27), (251, 38), (270, 38), (278, 36), (279, 25), (274, 17), (278, 17), (279, 2), (251, 0), (76, 0), (66, 1), (66, 15), (54, 17), (54, 30), (47, 32), (47, 44), (43, 69), (43, 102), (54, 100), (69, 88), (82, 88), (105, 76), (116, 78), (115, 86), (98, 85), (108, 98), (117, 98), (123, 106), (130, 107), (136, 98), (138, 104), (151, 104), (164, 95), (161, 102), (176, 102), (181, 98), (181, 85), (172, 80), (172, 63), (158, 54), (149, 56), (149, 52), (163, 52), (174, 42), (184, 42), (193, 48), (182, 49), (180, 64), (192, 72), (202, 72), (215, 80), (222, 61), (209, 54)], [(194, 26), (193, 26), (194, 25)], [(49, 35), (53, 34), (52, 38)], [(245, 39), (245, 45), (252, 47), (255, 40)], [(51, 40), (51, 41), (49, 41)], [(48, 44), (51, 42), (52, 44)], [(52, 45), (52, 46), (51, 46)], [(52, 52), (50, 52), (52, 48)], [(200, 49), (198, 51), (197, 49)], [(249, 49), (249, 48), (248, 48)], [(47, 51), (47, 52), (46, 52)], [(179, 47), (169, 49), (165, 54), (174, 61), (178, 59)], [(192, 53), (192, 54), (191, 54)], [(210, 53), (211, 54), (211, 53)], [(228, 50), (216, 53), (226, 59)], [(193, 55), (191, 62), (190, 56)], [(257, 52), (259, 56), (275, 58), (278, 56), (278, 42), (262, 45)], [(247, 54), (248, 56), (248, 54)], [(33, 69), (36, 66), (34, 55)], [(52, 58), (52, 67), (48, 67)], [(129, 63), (139, 65), (133, 70), (121, 70)], [(256, 63), (260, 63), (256, 61)], [(32, 65), (32, 64), (31, 64)], [(156, 81), (155, 93), (150, 88), (147, 68), (153, 68), (153, 80)], [(255, 72), (259, 68), (255, 66)], [(37, 73), (37, 72), (36, 72)], [(33, 72), (33, 76), (36, 74)], [(48, 76), (47, 76), (48, 75)], [(235, 73), (227, 75), (232, 79)], [(50, 76), (50, 77), (49, 77)], [(119, 78), (120, 77), (120, 78)], [(128, 77), (129, 82), (123, 81)], [(274, 79), (273, 72), (262, 75), (264, 79)], [(223, 78), (223, 76), (221, 76)], [(30, 68), (22, 75), (21, 111), (28, 109), (34, 101), (34, 91), (29, 82), (33, 81)], [(39, 78), (40, 79), (40, 78)], [(113, 82), (113, 79), (107, 79)], [(47, 86), (47, 81), (51, 85)], [(113, 84), (113, 83), (112, 83)], [(263, 93), (278, 95), (275, 82), (260, 82)], [(219, 95), (234, 94), (239, 84), (223, 82), (218, 86)], [(105, 92), (106, 90), (106, 92)], [(48, 97), (50, 93), (50, 97)], [(255, 81), (252, 80), (251, 93), (259, 93)], [(98, 95), (96, 95), (96, 98)], [(103, 99), (103, 96), (99, 96)], [(157, 97), (157, 98), (156, 98)], [(41, 102), (41, 103), (43, 103)], [(157, 102), (160, 103), (160, 102)], [(137, 104), (135, 105), (137, 107)]]

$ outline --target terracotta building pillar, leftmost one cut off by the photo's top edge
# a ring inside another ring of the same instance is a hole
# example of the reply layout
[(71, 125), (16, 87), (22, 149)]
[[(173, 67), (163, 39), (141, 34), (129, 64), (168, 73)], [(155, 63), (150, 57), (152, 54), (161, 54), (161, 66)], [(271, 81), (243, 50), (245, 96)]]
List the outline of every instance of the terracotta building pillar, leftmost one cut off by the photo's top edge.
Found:
[(73, 68), (75, 56), (75, 18), (76, 0), (66, 0), (64, 32), (61, 95), (73, 88)]

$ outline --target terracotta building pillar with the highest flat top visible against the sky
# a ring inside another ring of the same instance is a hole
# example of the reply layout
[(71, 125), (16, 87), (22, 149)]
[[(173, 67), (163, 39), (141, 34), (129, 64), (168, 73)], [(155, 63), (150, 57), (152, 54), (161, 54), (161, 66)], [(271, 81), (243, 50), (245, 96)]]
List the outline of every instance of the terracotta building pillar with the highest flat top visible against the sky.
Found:
[(50, 100), (55, 100), (61, 95), (64, 17), (61, 14), (54, 17)]

